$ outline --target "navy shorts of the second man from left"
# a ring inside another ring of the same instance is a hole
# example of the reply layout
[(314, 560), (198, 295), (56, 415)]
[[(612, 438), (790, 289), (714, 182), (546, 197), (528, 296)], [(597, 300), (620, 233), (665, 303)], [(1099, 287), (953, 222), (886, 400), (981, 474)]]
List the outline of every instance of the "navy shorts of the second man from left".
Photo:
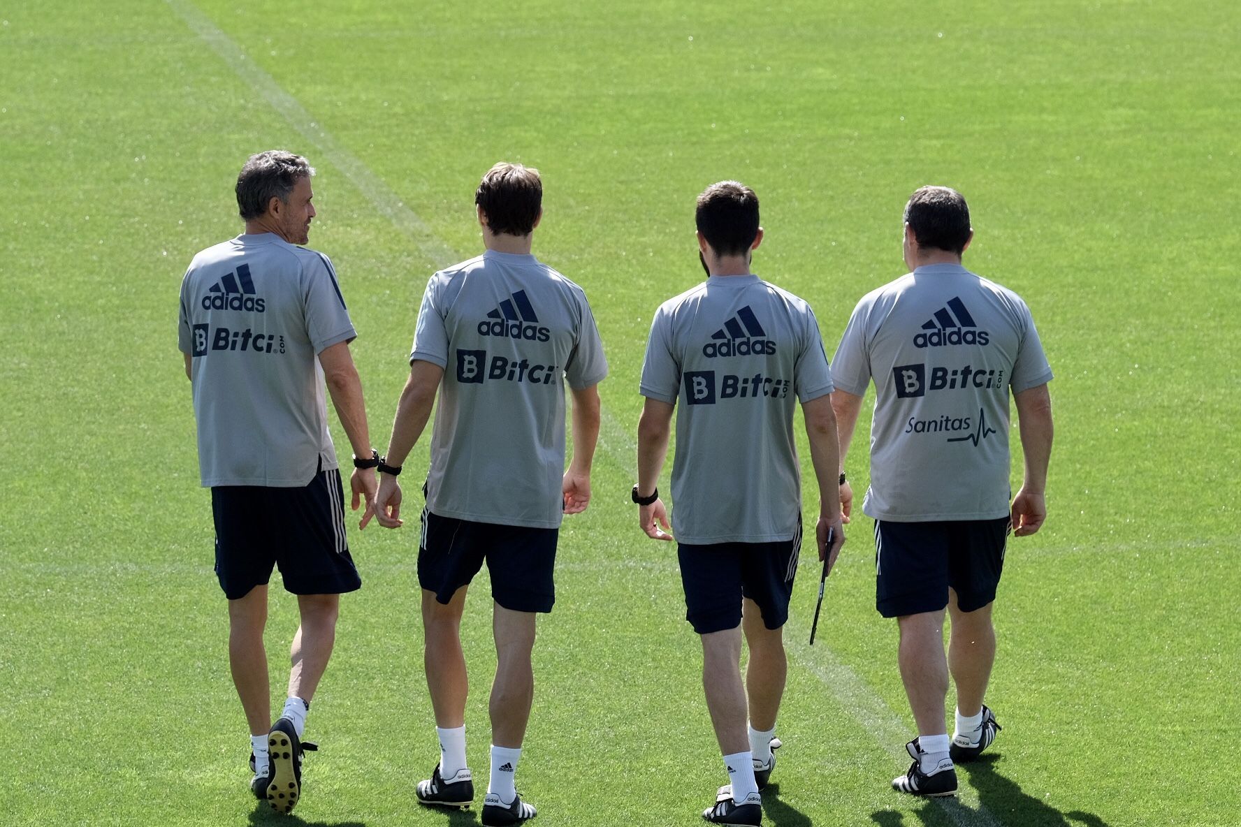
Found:
[(441, 517), (422, 510), (418, 585), (448, 604), (486, 560), (491, 599), (510, 611), (551, 611), (556, 603), (558, 528), (530, 528)]

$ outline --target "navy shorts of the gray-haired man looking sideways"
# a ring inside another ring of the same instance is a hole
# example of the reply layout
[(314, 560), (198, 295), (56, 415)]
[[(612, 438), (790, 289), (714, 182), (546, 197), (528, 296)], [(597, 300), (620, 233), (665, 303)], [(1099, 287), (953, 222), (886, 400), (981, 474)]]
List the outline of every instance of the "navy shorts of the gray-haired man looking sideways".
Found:
[(280, 568), (293, 594), (343, 594), (362, 586), (345, 538), (340, 471), (319, 471), (300, 489), (211, 489), (216, 577), (230, 600), (267, 585)]

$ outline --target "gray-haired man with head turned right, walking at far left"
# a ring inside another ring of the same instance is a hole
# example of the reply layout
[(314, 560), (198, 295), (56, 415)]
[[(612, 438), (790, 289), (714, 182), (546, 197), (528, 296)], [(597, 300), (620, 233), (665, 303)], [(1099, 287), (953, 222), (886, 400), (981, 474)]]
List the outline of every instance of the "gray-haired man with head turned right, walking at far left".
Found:
[[(228, 598), (228, 660), (251, 732), (251, 790), (280, 812), (302, 792), (310, 698), (335, 641), (340, 594), (361, 586), (345, 537), (344, 492), (328, 434), (324, 382), (359, 470), (352, 507), (372, 513), (379, 454), (349, 355), (357, 335), (331, 262), (298, 247), (315, 216), (314, 169), (299, 155), (253, 155), (237, 177), (246, 232), (194, 257), (181, 281), (179, 345), (194, 384), (202, 486), (211, 489), (216, 575)], [(298, 595), (289, 693), (273, 724), (267, 583), (279, 565)]]

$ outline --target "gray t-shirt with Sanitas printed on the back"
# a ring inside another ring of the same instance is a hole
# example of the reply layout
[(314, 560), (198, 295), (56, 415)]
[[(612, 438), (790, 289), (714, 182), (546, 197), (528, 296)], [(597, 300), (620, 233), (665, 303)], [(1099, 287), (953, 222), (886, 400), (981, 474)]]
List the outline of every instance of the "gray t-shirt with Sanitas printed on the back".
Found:
[(831, 360), (836, 387), (875, 381), (876, 520), (994, 520), (1009, 512), (1009, 388), (1051, 379), (1030, 309), (959, 264), (920, 267), (862, 296)]

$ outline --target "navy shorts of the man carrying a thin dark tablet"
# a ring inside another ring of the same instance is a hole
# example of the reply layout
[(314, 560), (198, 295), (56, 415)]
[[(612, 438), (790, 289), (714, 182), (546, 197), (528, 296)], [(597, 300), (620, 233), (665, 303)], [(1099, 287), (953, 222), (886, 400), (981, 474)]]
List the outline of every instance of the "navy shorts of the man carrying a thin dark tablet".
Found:
[(736, 629), (741, 599), (748, 598), (763, 613), (763, 626), (779, 629), (788, 621), (800, 552), (800, 521), (793, 539), (777, 543), (678, 543), (685, 620), (699, 635)]

